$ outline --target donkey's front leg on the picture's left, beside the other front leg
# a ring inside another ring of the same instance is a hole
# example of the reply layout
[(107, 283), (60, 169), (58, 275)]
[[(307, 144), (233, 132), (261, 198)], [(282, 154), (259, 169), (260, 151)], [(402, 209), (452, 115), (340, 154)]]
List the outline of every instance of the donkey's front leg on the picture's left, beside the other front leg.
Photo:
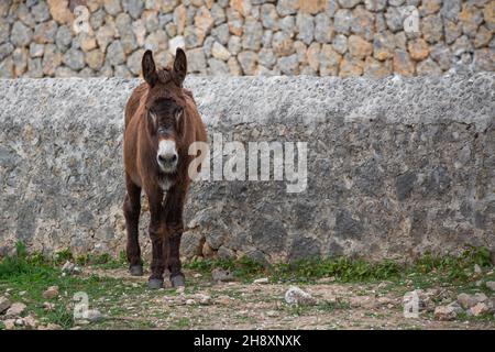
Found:
[(151, 276), (147, 282), (150, 288), (163, 287), (163, 272), (167, 263), (166, 252), (163, 251), (164, 243), (168, 241), (163, 216), (162, 206), (163, 193), (157, 191), (153, 196), (148, 196), (150, 201), (150, 238), (152, 241), (152, 263)]

